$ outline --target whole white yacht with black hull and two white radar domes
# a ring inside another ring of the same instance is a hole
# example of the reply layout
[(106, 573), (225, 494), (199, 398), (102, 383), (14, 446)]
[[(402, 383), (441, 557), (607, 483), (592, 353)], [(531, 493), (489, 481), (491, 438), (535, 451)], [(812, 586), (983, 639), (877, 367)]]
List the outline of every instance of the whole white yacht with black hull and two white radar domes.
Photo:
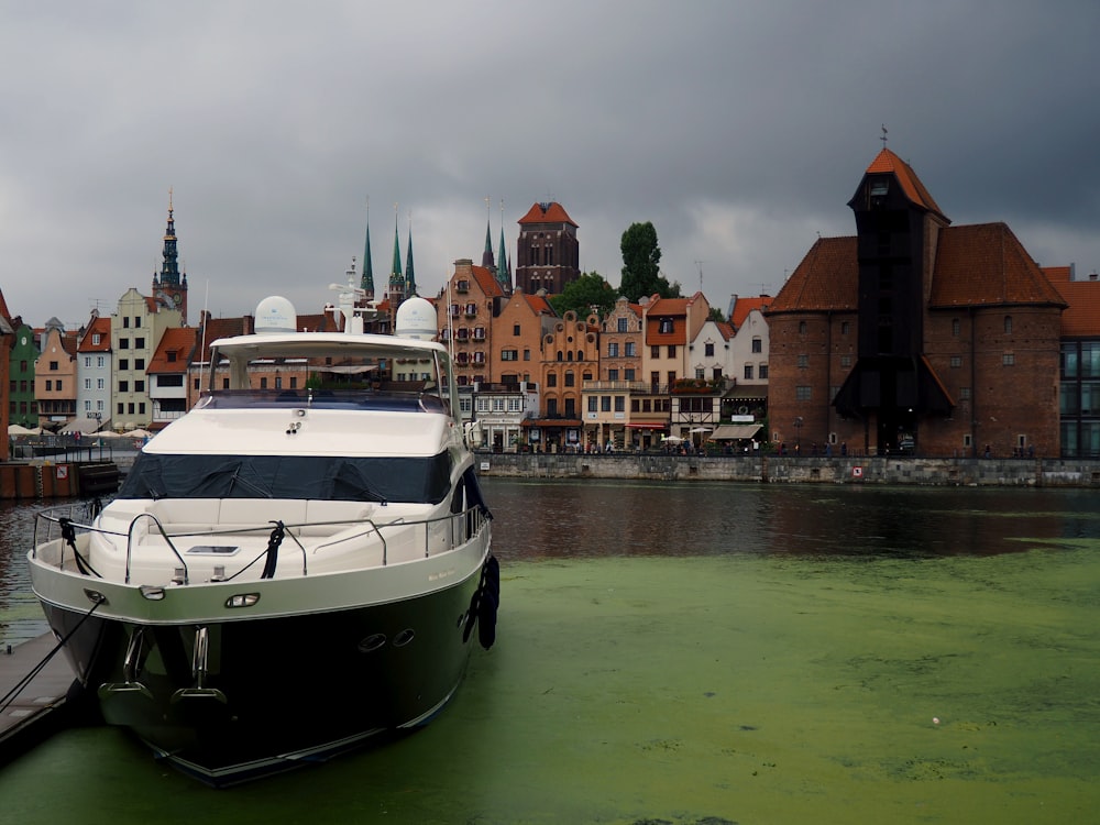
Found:
[(332, 333), (265, 299), (101, 513), (35, 528), (34, 592), (103, 719), (211, 784), (418, 726), (493, 644), (492, 516), (435, 309), (369, 334), (342, 297)]

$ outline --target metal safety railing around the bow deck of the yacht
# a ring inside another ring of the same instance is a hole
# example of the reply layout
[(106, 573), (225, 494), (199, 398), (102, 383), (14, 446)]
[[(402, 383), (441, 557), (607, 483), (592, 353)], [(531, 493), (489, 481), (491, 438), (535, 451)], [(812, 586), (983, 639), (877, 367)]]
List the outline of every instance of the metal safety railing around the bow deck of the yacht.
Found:
[[(392, 561), (391, 542), (393, 537), (391, 536), (391, 539), (387, 540), (386, 534), (388, 532), (392, 535), (398, 529), (403, 531), (411, 531), (414, 534), (414, 539), (411, 542), (407, 543), (422, 548), (424, 558), (430, 558), (433, 554), (447, 552), (457, 547), (461, 547), (466, 541), (471, 540), (482, 529), (484, 529), (487, 516), (481, 506), (474, 506), (466, 510), (448, 513), (443, 516), (417, 520), (408, 520), (405, 517), (398, 517), (392, 521), (380, 521), (374, 518), (301, 522), (265, 521), (249, 525), (233, 525), (231, 527), (224, 526), (221, 528), (219, 528), (218, 525), (210, 525), (205, 526), (202, 529), (195, 529), (193, 526), (188, 526), (188, 528), (184, 530), (173, 530), (170, 522), (167, 525), (162, 522), (156, 515), (152, 513), (140, 513), (130, 521), (124, 534), (119, 530), (110, 530), (99, 527), (94, 524), (94, 520), (95, 515), (87, 508), (81, 508), (80, 506), (52, 507), (42, 510), (35, 518), (34, 550), (32, 551), (32, 554), (36, 557), (37, 548), (44, 543), (58, 538), (65, 539), (61, 548), (61, 552), (58, 553), (57, 562), (58, 569), (62, 569), (65, 566), (65, 546), (68, 543), (68, 537), (66, 536), (67, 529), (72, 529), (72, 534), (69, 534), (69, 536), (75, 536), (75, 534), (79, 531), (124, 538), (127, 541), (125, 583), (129, 584), (135, 557), (142, 546), (142, 522), (150, 520), (153, 522), (154, 528), (160, 534), (161, 538), (164, 539), (165, 544), (178, 562), (178, 568), (175, 570), (173, 576), (173, 583), (176, 585), (186, 585), (190, 583), (190, 571), (186, 560), (184, 559), (184, 554), (176, 547), (176, 543), (180, 539), (189, 539), (198, 536), (201, 536), (202, 538), (213, 538), (218, 536), (240, 536), (242, 534), (272, 532), (272, 541), (274, 541), (274, 534), (278, 530), (280, 534), (279, 542), (289, 538), (301, 551), (301, 574), (308, 575), (308, 560), (310, 554), (321, 552), (324, 549), (332, 548), (348, 541), (362, 539), (371, 534), (376, 535), (382, 544), (382, 565), (388, 565)], [(336, 530), (336, 528), (339, 527), (343, 527), (344, 529)], [(438, 527), (442, 527), (447, 538), (446, 542), (440, 542), (441, 536), (439, 530), (433, 531), (433, 528)], [(332, 532), (320, 536), (309, 535), (310, 531), (316, 530), (331, 530)], [(419, 534), (419, 536), (417, 536), (417, 534)], [(311, 538), (318, 538), (321, 540), (319, 542), (314, 542), (310, 541)], [(440, 550), (437, 548), (436, 553), (433, 553), (432, 550), (436, 546), (441, 546), (442, 549)], [(267, 553), (271, 550), (272, 546), (268, 543), (268, 547), (261, 551), (261, 554), (257, 556), (256, 559), (262, 558), (264, 553)], [(73, 551), (76, 552), (75, 542)], [(253, 559), (253, 561), (249, 562), (249, 564), (254, 563), (256, 559)], [(249, 564), (245, 566), (249, 566)]]

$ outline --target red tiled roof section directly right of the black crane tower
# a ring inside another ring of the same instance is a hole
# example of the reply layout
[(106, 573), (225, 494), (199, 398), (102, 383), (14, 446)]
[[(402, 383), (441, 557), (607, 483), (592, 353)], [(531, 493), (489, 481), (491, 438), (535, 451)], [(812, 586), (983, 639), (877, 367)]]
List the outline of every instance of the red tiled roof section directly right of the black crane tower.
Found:
[(1004, 223), (939, 233), (930, 307), (1065, 301)]

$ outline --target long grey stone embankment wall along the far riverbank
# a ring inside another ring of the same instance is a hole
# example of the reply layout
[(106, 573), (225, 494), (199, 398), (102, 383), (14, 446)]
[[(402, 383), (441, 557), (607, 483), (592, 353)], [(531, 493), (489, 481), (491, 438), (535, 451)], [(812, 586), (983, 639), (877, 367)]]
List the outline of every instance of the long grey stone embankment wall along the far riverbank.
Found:
[(477, 465), (488, 477), (1100, 487), (1100, 461), (1087, 459), (479, 453)]

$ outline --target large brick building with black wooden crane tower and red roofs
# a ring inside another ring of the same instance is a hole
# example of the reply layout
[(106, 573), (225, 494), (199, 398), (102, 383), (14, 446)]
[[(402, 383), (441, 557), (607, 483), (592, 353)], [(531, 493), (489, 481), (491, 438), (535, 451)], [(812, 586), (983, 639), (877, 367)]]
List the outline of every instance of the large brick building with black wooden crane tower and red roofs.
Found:
[(788, 446), (1059, 452), (1066, 301), (1003, 223), (953, 227), (883, 148), (767, 312), (769, 424)]

